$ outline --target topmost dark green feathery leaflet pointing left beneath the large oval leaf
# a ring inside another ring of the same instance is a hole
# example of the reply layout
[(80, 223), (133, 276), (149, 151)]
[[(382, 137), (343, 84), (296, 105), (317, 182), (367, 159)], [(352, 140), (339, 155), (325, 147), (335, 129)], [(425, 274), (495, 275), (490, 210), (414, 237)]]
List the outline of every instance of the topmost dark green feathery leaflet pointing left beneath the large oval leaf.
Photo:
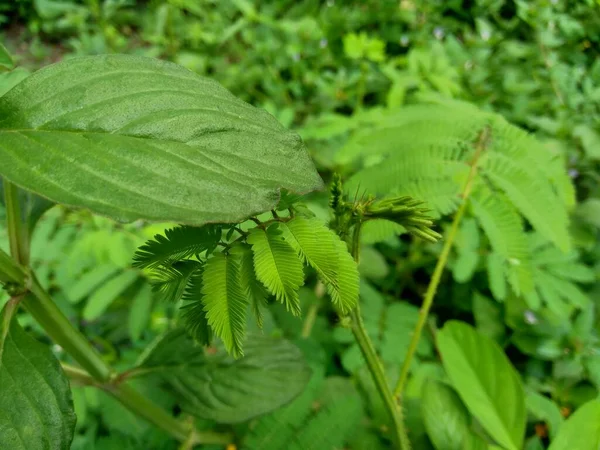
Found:
[(181, 226), (157, 234), (141, 246), (133, 257), (134, 267), (153, 268), (161, 264), (189, 258), (205, 250), (214, 249), (221, 239), (221, 227), (205, 225), (203, 227)]

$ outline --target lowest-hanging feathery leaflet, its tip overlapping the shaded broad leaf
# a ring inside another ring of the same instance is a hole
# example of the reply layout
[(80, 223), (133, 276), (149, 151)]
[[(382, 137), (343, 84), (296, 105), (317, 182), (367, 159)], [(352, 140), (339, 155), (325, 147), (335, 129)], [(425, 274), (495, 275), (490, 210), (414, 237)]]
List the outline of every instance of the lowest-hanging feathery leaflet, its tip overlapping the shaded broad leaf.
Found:
[(233, 357), (243, 356), (248, 297), (240, 280), (240, 255), (217, 253), (206, 262), (202, 294), (209, 325)]

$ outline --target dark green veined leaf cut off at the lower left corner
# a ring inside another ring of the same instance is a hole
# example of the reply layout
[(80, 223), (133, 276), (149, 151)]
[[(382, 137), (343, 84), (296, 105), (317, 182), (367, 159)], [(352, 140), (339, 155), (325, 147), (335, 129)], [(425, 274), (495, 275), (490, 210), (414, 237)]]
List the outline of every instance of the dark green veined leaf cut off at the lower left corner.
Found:
[(69, 382), (46, 345), (23, 331), (9, 302), (0, 315), (0, 448), (70, 447), (75, 412)]

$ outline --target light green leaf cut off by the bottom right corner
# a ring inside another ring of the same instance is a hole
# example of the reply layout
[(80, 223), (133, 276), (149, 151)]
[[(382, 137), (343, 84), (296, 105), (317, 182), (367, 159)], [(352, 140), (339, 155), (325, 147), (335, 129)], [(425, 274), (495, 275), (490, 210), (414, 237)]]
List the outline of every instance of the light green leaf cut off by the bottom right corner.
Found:
[(592, 400), (569, 417), (548, 450), (598, 450), (600, 448), (600, 401)]

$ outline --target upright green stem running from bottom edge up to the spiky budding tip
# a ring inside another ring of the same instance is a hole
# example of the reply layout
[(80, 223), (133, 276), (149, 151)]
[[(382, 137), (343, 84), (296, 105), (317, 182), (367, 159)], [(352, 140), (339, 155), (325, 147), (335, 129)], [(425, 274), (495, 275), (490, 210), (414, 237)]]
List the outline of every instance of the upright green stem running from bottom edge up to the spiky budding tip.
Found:
[[(360, 258), (360, 229), (361, 224), (358, 222), (356, 225), (354, 225), (354, 233), (352, 235), (352, 244), (350, 248), (350, 253), (357, 263)], [(410, 450), (410, 441), (404, 427), (402, 410), (394, 400), (394, 396), (392, 395), (392, 391), (385, 376), (383, 364), (377, 357), (373, 342), (371, 342), (371, 339), (369, 338), (365, 328), (365, 324), (360, 314), (360, 303), (356, 304), (356, 308), (350, 313), (350, 318), (352, 319), (352, 334), (354, 335), (354, 339), (360, 347), (360, 351), (367, 362), (367, 367), (369, 372), (371, 372), (373, 382), (375, 383), (377, 391), (379, 392), (379, 395), (381, 396), (381, 399), (383, 400), (383, 403), (388, 411), (388, 415), (392, 421), (394, 440), (400, 449)]]

